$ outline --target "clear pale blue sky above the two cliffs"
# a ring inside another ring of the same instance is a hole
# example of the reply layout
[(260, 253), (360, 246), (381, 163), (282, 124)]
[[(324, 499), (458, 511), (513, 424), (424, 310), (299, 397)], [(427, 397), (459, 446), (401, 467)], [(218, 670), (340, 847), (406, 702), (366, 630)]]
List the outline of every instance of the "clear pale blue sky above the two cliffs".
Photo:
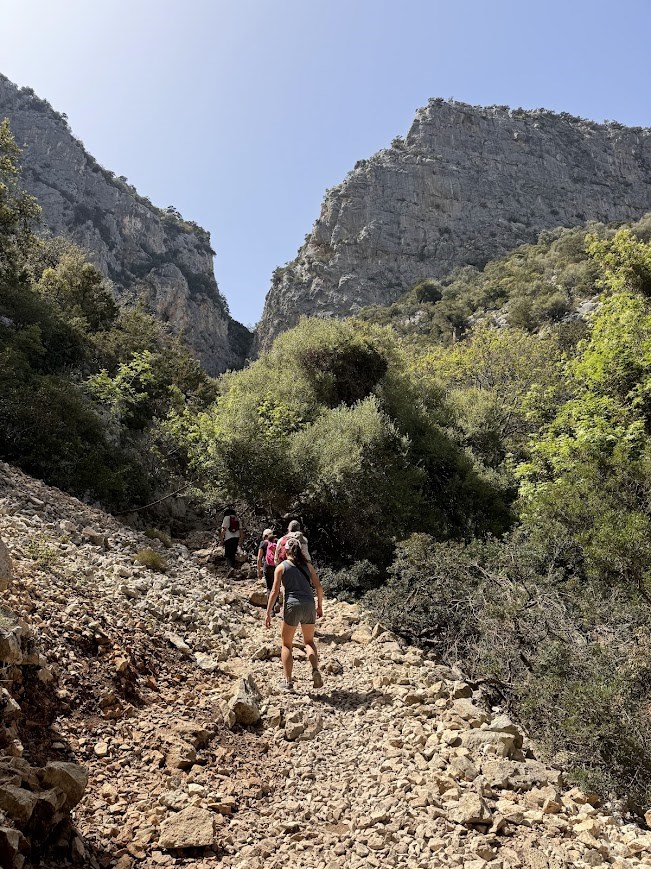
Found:
[(430, 97), (651, 126), (650, 0), (0, 0), (0, 71), (208, 229), (260, 316), (324, 190)]

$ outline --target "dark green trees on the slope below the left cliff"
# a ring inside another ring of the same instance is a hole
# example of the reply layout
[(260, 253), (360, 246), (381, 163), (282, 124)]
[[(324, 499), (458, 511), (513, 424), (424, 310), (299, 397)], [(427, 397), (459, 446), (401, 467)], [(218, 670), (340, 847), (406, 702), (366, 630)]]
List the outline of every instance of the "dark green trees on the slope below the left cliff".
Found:
[(141, 309), (120, 309), (83, 253), (35, 233), (19, 150), (0, 125), (0, 457), (116, 510), (182, 472), (160, 421), (213, 386)]

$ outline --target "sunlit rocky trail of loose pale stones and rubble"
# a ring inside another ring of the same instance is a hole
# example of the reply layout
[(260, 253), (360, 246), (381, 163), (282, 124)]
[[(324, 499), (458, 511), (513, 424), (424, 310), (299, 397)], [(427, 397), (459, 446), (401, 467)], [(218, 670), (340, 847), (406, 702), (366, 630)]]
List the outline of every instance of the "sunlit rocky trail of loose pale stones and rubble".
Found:
[(326, 601), (324, 687), (297, 642), (287, 695), (260, 584), (202, 565), (205, 536), (0, 464), (0, 540), (1, 866), (651, 866), (651, 833), (358, 607)]

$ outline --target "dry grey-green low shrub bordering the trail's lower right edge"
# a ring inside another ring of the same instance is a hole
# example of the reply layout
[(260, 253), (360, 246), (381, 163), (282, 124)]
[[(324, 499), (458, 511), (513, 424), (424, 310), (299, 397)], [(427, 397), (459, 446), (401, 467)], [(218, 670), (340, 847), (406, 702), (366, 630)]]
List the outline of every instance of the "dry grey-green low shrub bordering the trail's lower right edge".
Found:
[(469, 545), (415, 535), (367, 603), (492, 688), (573, 781), (639, 810), (651, 800), (651, 611), (643, 594), (582, 575), (557, 531)]

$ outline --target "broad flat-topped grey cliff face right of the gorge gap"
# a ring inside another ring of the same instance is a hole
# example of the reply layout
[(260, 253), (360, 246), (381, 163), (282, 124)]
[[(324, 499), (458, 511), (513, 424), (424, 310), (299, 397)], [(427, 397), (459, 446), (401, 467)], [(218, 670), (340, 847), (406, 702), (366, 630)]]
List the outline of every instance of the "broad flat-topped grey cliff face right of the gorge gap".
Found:
[(405, 139), (326, 193), (296, 259), (274, 273), (258, 345), (303, 314), (389, 304), (421, 278), (482, 266), (543, 229), (650, 209), (651, 130), (430, 100)]

